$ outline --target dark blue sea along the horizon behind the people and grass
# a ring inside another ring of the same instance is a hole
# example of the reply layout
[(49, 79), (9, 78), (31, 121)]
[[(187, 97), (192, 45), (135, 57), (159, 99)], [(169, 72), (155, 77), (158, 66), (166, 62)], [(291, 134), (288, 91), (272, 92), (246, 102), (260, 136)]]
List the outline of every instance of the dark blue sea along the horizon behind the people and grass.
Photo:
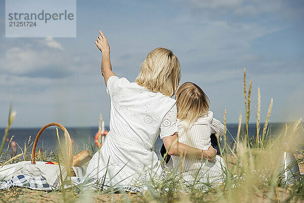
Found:
[[(244, 131), (244, 127), (242, 129)], [(270, 134), (271, 136), (276, 136), (276, 134), (282, 130), (284, 125), (282, 123), (273, 123), (270, 124)], [(227, 124), (227, 142), (232, 142), (233, 139), (237, 136), (238, 124)], [(262, 132), (263, 126), (261, 126), (260, 134)], [(39, 132), (40, 128), (11, 128), (9, 131), (8, 138), (11, 139), (14, 136), (13, 140), (15, 140), (18, 145), (23, 149), (24, 143), (27, 143), (29, 136), (31, 137), (31, 141), (35, 140), (36, 134)], [(80, 151), (86, 149), (89, 145), (94, 146), (94, 137), (95, 133), (98, 131), (98, 127), (67, 127), (67, 130), (70, 134), (72, 140), (72, 149), (73, 151)], [(256, 134), (256, 126), (255, 124), (249, 124), (248, 127), (249, 135), (254, 136)], [(64, 140), (63, 131), (58, 128), (60, 139)], [(4, 136), (5, 128), (0, 128), (0, 141)], [(159, 151), (163, 142), (160, 138), (157, 139), (155, 144), (155, 150), (159, 156)], [(4, 150), (8, 147), (8, 142), (5, 143)], [(55, 127), (47, 128), (39, 139), (36, 150), (42, 148), (43, 151), (53, 150), (58, 147), (58, 140), (56, 136)], [(28, 149), (31, 152), (32, 147)], [(95, 148), (97, 149), (97, 148)], [(20, 150), (20, 149), (19, 149)]]

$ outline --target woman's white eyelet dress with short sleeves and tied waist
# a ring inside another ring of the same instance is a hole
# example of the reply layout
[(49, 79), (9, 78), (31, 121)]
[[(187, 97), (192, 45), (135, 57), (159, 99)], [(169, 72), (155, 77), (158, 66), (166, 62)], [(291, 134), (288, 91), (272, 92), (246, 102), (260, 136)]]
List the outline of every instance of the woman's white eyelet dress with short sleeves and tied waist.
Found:
[(160, 177), (162, 167), (151, 151), (158, 136), (177, 132), (176, 101), (126, 78), (107, 81), (111, 100), (110, 130), (87, 167), (87, 176), (117, 188)]

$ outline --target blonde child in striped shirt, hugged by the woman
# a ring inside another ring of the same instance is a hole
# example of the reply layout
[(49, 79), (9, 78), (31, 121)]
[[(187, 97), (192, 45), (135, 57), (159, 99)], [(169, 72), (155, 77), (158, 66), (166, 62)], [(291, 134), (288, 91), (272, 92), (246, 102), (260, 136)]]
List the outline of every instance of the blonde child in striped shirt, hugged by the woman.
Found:
[[(211, 133), (222, 136), (224, 125), (213, 118), (209, 111), (210, 100), (205, 92), (192, 82), (183, 83), (176, 92), (177, 129), (180, 143), (207, 150), (211, 146)], [(225, 162), (216, 155), (215, 161), (172, 156), (173, 168), (181, 173), (183, 179), (199, 186), (222, 182)]]

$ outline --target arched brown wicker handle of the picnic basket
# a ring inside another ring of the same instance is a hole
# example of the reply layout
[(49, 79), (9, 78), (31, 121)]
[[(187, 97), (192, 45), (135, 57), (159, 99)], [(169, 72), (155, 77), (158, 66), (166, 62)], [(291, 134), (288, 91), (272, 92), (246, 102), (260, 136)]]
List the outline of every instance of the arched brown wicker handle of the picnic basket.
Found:
[(36, 162), (35, 162), (35, 151), (36, 151), (36, 146), (37, 146), (38, 140), (39, 140), (42, 132), (45, 129), (47, 129), (48, 127), (51, 127), (51, 126), (60, 127), (64, 131), (64, 136), (65, 136), (66, 142), (68, 144), (68, 156), (69, 156), (68, 160), (70, 161), (70, 163), (72, 162), (72, 142), (71, 142), (71, 138), (70, 138), (70, 135), (69, 135), (67, 129), (59, 123), (49, 123), (49, 124), (46, 124), (45, 126), (43, 126), (40, 129), (40, 131), (38, 132), (37, 136), (36, 136), (35, 142), (33, 144), (32, 153), (30, 155), (31, 164), (36, 164)]

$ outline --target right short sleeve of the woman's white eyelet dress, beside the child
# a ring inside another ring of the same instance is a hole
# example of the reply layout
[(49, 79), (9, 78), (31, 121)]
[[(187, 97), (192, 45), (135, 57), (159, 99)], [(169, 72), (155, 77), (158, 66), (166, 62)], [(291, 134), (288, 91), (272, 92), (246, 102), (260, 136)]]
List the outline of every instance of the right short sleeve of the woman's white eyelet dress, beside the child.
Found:
[(160, 138), (163, 139), (168, 136), (172, 136), (177, 132), (176, 126), (177, 120), (177, 107), (176, 104), (171, 108), (171, 110), (165, 115), (161, 126), (160, 126)]

